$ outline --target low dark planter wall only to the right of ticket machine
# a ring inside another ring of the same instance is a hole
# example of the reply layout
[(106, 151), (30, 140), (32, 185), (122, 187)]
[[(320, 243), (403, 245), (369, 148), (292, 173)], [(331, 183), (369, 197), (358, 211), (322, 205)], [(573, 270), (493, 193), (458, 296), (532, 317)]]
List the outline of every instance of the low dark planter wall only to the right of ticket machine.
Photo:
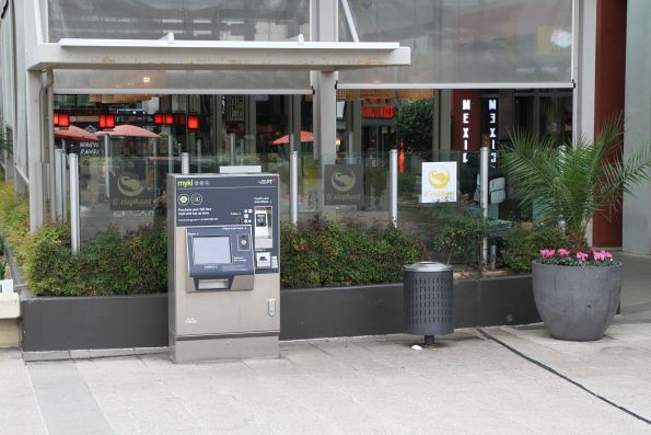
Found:
[[(280, 339), (377, 335), (404, 332), (403, 285), (280, 291)], [(454, 283), (454, 327), (539, 322), (531, 275)]]

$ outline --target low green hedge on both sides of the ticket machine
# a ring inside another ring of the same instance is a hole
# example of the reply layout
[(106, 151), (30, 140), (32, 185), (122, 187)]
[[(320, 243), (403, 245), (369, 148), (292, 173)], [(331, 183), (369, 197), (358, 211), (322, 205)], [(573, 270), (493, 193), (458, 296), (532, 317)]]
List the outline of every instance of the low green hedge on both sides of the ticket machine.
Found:
[[(167, 289), (164, 228), (142, 228), (120, 238), (108, 232), (70, 252), (67, 225), (30, 233), (26, 197), (0, 183), (0, 230), (38, 296), (161, 293)], [(281, 286), (322, 287), (396, 283), (406, 263), (420, 261), (417, 238), (393, 228), (312, 221), (281, 230)]]

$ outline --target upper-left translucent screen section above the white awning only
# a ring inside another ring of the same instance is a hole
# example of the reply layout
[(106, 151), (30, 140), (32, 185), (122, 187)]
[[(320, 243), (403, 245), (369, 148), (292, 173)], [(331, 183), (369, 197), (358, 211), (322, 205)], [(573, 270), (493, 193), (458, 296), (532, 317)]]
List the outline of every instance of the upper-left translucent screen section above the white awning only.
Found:
[(62, 37), (286, 41), (310, 34), (309, 0), (49, 0), (49, 41)]

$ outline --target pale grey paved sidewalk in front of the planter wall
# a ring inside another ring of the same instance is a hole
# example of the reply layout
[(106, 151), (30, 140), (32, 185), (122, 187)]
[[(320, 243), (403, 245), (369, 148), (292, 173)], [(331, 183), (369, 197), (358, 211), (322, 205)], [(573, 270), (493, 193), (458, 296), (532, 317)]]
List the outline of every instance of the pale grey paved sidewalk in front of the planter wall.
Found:
[(636, 261), (623, 316), (591, 343), (537, 324), (458, 330), (423, 351), (409, 335), (312, 340), (277, 359), (189, 365), (0, 351), (0, 433), (651, 434), (651, 260)]

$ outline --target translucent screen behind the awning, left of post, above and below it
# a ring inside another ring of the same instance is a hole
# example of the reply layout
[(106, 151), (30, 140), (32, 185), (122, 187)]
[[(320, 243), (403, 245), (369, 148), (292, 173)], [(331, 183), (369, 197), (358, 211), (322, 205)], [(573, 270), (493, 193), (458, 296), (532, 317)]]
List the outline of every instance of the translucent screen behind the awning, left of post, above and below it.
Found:
[[(62, 37), (287, 41), (310, 35), (307, 0), (50, 0), (49, 41)], [(56, 71), (56, 89), (310, 89), (306, 71)]]

